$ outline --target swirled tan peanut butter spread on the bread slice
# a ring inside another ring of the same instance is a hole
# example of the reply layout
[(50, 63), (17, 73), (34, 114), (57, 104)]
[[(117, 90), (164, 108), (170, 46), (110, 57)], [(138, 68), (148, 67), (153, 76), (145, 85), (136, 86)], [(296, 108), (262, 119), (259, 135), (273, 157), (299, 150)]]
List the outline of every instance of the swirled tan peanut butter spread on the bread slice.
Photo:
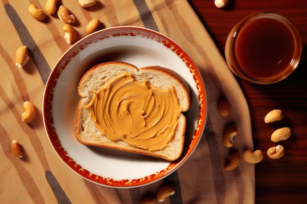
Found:
[(84, 107), (102, 135), (151, 151), (173, 140), (182, 110), (174, 87), (162, 90), (130, 73), (94, 91)]

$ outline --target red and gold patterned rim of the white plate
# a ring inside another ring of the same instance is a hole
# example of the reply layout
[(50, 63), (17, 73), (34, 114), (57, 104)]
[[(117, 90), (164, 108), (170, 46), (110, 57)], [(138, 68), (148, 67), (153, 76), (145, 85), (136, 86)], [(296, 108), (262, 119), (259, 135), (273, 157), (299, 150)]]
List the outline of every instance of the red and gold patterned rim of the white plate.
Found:
[[(63, 71), (65, 70), (67, 65), (71, 62), (71, 60), (87, 46), (95, 44), (98, 41), (103, 41), (107, 38), (116, 38), (118, 36), (129, 36), (129, 37), (141, 36), (142, 38), (153, 40), (158, 44), (164, 45), (172, 52), (174, 52), (179, 57), (179, 59), (182, 60), (186, 68), (189, 69), (190, 73), (193, 76), (195, 87), (197, 89), (196, 91), (197, 96), (195, 97), (195, 99), (197, 100), (196, 102), (199, 103), (197, 108), (198, 113), (193, 113), (193, 114), (198, 114), (194, 135), (191, 136), (191, 139), (188, 140), (188, 143), (185, 144), (185, 148), (183, 150), (181, 157), (173, 162), (170, 162), (166, 168), (161, 169), (160, 171), (152, 175), (132, 180), (130, 179), (116, 180), (109, 177), (103, 177), (102, 176), (103, 174), (98, 175), (91, 173), (86, 169), (86, 167), (78, 164), (75, 161), (74, 156), (70, 155), (62, 146), (61, 144), (62, 141), (58, 135), (59, 132), (54, 126), (54, 113), (52, 112), (52, 106), (54, 104), (54, 95), (56, 94), (54, 92), (54, 89), (57, 86), (57, 82), (61, 73), (63, 73)], [(191, 156), (196, 146), (198, 145), (205, 128), (206, 113), (207, 113), (207, 108), (206, 108), (206, 95), (205, 95), (204, 83), (202, 81), (202, 77), (198, 68), (195, 66), (192, 59), (188, 56), (188, 54), (186, 54), (186, 52), (178, 44), (176, 44), (174, 41), (167, 38), (166, 36), (150, 29), (133, 27), (133, 26), (106, 28), (104, 30), (100, 30), (93, 34), (90, 34), (81, 39), (80, 41), (78, 41), (76, 44), (72, 45), (61, 56), (61, 58), (58, 60), (58, 62), (52, 69), (46, 84), (46, 88), (44, 91), (44, 98), (43, 98), (43, 119), (44, 119), (46, 133), (54, 151), (60, 157), (60, 159), (66, 165), (68, 165), (75, 173), (77, 173), (79, 176), (83, 177), (84, 179), (104, 186), (117, 187), (117, 188), (138, 187), (150, 184), (165, 178), (166, 176), (170, 175), (175, 170), (177, 170)]]

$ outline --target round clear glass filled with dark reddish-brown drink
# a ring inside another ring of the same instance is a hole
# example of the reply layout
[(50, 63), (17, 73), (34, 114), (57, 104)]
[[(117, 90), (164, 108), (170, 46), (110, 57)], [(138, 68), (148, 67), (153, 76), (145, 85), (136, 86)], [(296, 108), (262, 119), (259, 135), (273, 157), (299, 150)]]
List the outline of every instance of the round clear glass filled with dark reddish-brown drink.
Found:
[(256, 84), (273, 84), (289, 76), (302, 55), (295, 26), (273, 12), (252, 14), (230, 31), (225, 57), (231, 71)]

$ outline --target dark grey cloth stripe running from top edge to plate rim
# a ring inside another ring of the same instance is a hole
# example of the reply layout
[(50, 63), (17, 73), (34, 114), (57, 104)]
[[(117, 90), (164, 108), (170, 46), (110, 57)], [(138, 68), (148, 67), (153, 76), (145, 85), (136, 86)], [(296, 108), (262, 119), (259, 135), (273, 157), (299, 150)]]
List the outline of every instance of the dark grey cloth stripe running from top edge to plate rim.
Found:
[(140, 14), (141, 20), (146, 28), (159, 31), (157, 24), (153, 19), (152, 12), (150, 11), (145, 0), (133, 0), (134, 5), (136, 6), (137, 11)]

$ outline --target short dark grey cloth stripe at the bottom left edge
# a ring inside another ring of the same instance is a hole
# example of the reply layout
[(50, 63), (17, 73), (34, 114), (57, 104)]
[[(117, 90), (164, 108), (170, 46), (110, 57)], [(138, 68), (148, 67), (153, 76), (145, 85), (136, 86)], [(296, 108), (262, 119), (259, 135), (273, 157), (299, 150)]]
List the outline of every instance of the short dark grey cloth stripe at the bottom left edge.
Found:
[(59, 204), (71, 204), (70, 200), (67, 198), (65, 192), (63, 191), (62, 187), (53, 176), (51, 171), (47, 170), (45, 172), (46, 179), (54, 193), (54, 196)]

